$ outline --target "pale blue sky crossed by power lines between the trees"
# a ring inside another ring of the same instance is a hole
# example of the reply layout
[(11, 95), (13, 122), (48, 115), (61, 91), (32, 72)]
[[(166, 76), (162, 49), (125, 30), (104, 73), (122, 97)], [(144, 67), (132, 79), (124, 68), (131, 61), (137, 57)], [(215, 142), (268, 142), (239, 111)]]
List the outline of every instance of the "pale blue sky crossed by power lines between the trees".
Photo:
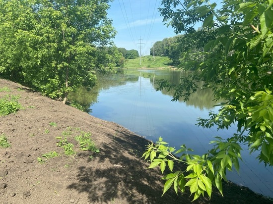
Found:
[(149, 55), (156, 41), (174, 37), (174, 29), (164, 25), (158, 7), (161, 0), (113, 0), (110, 2), (108, 18), (118, 34), (114, 43), (118, 48), (137, 50), (141, 55)]

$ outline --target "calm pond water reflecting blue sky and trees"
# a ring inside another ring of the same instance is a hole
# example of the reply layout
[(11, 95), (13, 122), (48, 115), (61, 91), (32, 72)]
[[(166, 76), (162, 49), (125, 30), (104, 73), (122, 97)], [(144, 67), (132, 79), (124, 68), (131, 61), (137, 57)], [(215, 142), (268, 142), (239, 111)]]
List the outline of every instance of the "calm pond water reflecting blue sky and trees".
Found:
[[(116, 74), (98, 75), (98, 85), (87, 92), (80, 89), (70, 99), (90, 105), (91, 115), (114, 121), (138, 135), (156, 141), (159, 136), (176, 147), (186, 144), (195, 154), (206, 153), (214, 136), (227, 138), (236, 128), (218, 131), (203, 129), (195, 124), (197, 118), (207, 118), (208, 111), (217, 111), (210, 90), (195, 93), (189, 101), (171, 102), (171, 93), (155, 91), (155, 81), (168, 79), (179, 83), (187, 73), (165, 70), (123, 70)], [(202, 84), (200, 84), (201, 86)], [(273, 197), (273, 167), (265, 167), (255, 159), (257, 154), (242, 152), (240, 175), (236, 171), (227, 178), (257, 193)]]

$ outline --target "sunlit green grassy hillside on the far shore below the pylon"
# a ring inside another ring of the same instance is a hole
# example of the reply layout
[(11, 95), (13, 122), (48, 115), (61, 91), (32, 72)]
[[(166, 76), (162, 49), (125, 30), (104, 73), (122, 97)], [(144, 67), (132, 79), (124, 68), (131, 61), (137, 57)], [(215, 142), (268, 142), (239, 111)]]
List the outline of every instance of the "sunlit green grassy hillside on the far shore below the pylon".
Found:
[(136, 59), (127, 59), (124, 68), (125, 69), (136, 69), (136, 68), (168, 68), (171, 64), (171, 60), (167, 56), (142, 56), (141, 65), (140, 57)]

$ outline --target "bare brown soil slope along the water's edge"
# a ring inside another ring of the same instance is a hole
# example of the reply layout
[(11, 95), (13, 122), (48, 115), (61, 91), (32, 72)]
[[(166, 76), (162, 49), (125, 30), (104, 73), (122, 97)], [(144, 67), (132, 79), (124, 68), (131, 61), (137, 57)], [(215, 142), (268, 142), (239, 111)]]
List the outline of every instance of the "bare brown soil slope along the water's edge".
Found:
[[(0, 148), (0, 204), (188, 204), (189, 192), (163, 197), (159, 169), (146, 169), (140, 157), (148, 143), (124, 127), (53, 101), (27, 87), (0, 79), (0, 98), (19, 95), (23, 109), (0, 116), (0, 135), (10, 148)], [(57, 127), (50, 125), (51, 122)], [(70, 128), (68, 128), (70, 127)], [(80, 128), (80, 129), (79, 129)], [(90, 132), (100, 153), (80, 151), (73, 136)], [(74, 155), (58, 147), (56, 137), (67, 134)], [(37, 157), (55, 151), (59, 156), (40, 164)], [(272, 204), (246, 187), (224, 183), (224, 198), (214, 190), (200, 204)]]

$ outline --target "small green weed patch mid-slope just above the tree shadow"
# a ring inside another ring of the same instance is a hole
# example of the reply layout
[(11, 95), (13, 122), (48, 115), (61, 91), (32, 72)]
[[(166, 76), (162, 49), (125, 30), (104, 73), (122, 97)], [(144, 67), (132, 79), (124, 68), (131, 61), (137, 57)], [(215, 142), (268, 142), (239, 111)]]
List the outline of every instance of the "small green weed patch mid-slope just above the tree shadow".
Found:
[(79, 142), (81, 150), (99, 153), (99, 149), (95, 146), (90, 136), (91, 133), (89, 132), (81, 132), (81, 134), (79, 136), (76, 136), (74, 139)]

